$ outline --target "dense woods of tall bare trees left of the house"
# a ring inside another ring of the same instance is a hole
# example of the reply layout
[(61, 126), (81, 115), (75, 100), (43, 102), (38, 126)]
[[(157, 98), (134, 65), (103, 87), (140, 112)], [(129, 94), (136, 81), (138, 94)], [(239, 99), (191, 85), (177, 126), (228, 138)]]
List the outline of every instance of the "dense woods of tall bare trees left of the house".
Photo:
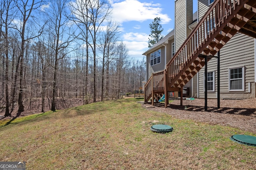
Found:
[(145, 61), (131, 59), (108, 0), (1, 0), (0, 107), (41, 98), (109, 100), (138, 90)]

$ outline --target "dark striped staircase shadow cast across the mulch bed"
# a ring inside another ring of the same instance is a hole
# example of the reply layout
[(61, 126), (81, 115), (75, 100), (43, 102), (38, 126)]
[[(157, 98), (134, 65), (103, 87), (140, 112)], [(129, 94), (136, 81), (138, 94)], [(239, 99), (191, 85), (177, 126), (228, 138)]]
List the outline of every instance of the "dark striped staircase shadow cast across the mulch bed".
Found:
[[(156, 107), (164, 107), (164, 103), (155, 104)], [(185, 109), (186, 107), (186, 109)], [(168, 108), (171, 109), (178, 109), (178, 110), (188, 110), (188, 111), (205, 111), (204, 106), (193, 106), (193, 105), (168, 105)], [(245, 116), (253, 116), (256, 117), (256, 109), (255, 108), (238, 108), (238, 107), (222, 107), (218, 109), (217, 107), (207, 107), (208, 112), (217, 112), (217, 113), (224, 113), (224, 114), (238, 114), (238, 115), (245, 115)]]

